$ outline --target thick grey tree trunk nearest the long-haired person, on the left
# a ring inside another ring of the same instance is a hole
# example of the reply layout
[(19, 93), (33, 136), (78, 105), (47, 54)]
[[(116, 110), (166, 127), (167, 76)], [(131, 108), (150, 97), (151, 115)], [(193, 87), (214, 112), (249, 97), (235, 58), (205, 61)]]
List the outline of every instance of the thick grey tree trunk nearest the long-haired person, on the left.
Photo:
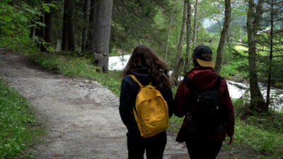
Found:
[(94, 65), (99, 66), (105, 73), (108, 71), (112, 4), (112, 0), (99, 1), (97, 23), (91, 40), (91, 52), (96, 57)]

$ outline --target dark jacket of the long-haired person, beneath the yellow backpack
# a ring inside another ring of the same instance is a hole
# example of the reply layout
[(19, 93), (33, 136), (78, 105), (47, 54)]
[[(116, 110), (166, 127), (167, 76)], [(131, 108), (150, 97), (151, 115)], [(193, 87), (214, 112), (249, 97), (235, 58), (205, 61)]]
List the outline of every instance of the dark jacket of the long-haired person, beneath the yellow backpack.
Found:
[[(146, 86), (151, 81), (151, 75), (146, 73), (146, 68), (133, 73), (141, 85)], [(153, 77), (154, 78), (154, 77)], [(122, 122), (127, 126), (127, 136), (140, 137), (137, 122), (134, 119), (133, 107), (136, 102), (137, 94), (139, 93), (139, 84), (132, 79), (131, 76), (127, 75), (122, 80), (121, 93), (120, 93), (120, 116)], [(168, 103), (169, 117), (173, 114), (173, 95), (172, 90), (161, 91), (164, 100)], [(163, 131), (166, 133), (166, 131)]]

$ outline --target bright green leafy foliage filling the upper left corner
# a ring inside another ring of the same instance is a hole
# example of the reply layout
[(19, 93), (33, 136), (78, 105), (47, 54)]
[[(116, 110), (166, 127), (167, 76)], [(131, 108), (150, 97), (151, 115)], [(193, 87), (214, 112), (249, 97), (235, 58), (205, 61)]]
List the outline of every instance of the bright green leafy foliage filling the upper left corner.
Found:
[[(0, 47), (13, 51), (30, 54), (37, 52), (38, 46), (47, 47), (49, 44), (41, 37), (31, 38), (31, 29), (43, 27), (40, 22), (42, 11), (50, 12), (54, 4), (36, 1), (0, 1)], [(52, 51), (52, 47), (46, 48)]]

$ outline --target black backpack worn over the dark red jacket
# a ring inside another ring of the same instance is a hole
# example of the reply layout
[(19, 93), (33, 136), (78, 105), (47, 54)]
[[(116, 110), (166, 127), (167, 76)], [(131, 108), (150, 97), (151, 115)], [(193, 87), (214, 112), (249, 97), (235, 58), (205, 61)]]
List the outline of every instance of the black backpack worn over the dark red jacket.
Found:
[(183, 82), (192, 93), (195, 112), (187, 114), (186, 136), (214, 136), (224, 130), (224, 119), (219, 107), (219, 88), (221, 76), (219, 75), (214, 87), (200, 90), (190, 83), (190, 78), (185, 77)]

